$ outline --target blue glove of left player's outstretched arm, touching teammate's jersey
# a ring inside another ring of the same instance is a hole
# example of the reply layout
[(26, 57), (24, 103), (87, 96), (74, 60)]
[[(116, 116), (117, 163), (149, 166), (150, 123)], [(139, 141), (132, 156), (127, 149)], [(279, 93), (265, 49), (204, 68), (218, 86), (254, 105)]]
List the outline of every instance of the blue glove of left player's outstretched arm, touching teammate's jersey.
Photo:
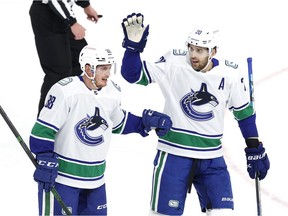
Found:
[(143, 110), (142, 121), (146, 133), (155, 129), (158, 136), (164, 136), (172, 127), (172, 121), (168, 115), (150, 109)]

